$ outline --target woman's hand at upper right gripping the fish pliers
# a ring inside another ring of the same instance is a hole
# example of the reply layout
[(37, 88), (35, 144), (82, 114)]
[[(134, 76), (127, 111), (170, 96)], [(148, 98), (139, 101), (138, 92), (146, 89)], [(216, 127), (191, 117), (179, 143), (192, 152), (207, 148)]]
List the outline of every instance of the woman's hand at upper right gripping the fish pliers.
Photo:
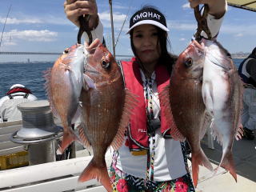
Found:
[(189, 0), (190, 6), (194, 8), (200, 4), (207, 4), (209, 6), (209, 14), (214, 15), (215, 18), (222, 18), (226, 12), (226, 0)]

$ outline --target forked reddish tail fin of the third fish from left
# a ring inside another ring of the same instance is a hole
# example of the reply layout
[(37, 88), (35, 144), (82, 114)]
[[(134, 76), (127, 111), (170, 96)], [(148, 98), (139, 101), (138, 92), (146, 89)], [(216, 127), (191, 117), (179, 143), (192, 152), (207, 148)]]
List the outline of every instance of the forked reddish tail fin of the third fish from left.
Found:
[(205, 166), (208, 170), (213, 170), (213, 166), (211, 166), (202, 149), (198, 150), (198, 153), (192, 152), (192, 178), (195, 187), (198, 186), (199, 165)]

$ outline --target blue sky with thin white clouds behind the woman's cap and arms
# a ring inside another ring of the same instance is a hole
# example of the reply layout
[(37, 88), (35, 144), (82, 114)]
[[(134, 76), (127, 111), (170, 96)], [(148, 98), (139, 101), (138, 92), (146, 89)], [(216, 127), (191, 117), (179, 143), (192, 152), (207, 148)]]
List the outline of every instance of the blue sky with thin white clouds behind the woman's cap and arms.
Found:
[[(64, 14), (64, 0), (0, 0), (0, 34), (8, 9), (10, 16), (3, 34), (1, 51), (62, 52), (76, 42), (78, 28)], [(104, 36), (110, 42), (110, 8), (108, 0), (97, 0), (98, 13), (104, 25)], [(130, 15), (144, 5), (158, 7), (166, 15), (170, 28), (171, 52), (179, 54), (190, 42), (197, 23), (194, 12), (186, 0), (113, 0), (114, 30), (117, 38), (122, 23), (126, 24), (116, 47), (116, 54), (132, 54), (129, 36), (126, 35)], [(256, 46), (256, 13), (228, 7), (218, 41), (230, 53), (250, 52)], [(1, 37), (1, 36), (0, 36)], [(0, 55), (0, 62), (53, 61), (58, 56)]]

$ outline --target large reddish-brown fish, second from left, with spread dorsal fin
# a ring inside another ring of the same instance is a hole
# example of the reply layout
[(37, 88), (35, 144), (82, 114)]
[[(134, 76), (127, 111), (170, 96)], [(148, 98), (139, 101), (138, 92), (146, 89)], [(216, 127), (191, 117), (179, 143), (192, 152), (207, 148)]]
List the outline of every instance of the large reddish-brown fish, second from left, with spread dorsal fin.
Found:
[(79, 177), (80, 182), (97, 178), (113, 191), (106, 169), (105, 154), (109, 146), (118, 150), (124, 141), (126, 126), (136, 100), (125, 89), (122, 73), (110, 51), (98, 39), (87, 48), (86, 86), (82, 89), (82, 118), (79, 136), (91, 147), (94, 157)]

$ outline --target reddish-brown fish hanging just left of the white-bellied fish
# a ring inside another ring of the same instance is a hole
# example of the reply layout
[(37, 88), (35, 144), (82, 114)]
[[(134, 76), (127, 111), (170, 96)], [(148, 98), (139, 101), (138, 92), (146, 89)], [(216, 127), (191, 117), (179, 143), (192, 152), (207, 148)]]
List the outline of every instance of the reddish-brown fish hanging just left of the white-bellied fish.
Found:
[[(198, 165), (213, 170), (200, 146), (206, 133), (206, 108), (202, 100), (204, 59), (203, 47), (198, 42), (191, 42), (179, 55), (170, 78), (170, 108), (175, 125), (190, 144), (194, 186), (198, 184)], [(173, 138), (175, 139), (175, 135)]]

